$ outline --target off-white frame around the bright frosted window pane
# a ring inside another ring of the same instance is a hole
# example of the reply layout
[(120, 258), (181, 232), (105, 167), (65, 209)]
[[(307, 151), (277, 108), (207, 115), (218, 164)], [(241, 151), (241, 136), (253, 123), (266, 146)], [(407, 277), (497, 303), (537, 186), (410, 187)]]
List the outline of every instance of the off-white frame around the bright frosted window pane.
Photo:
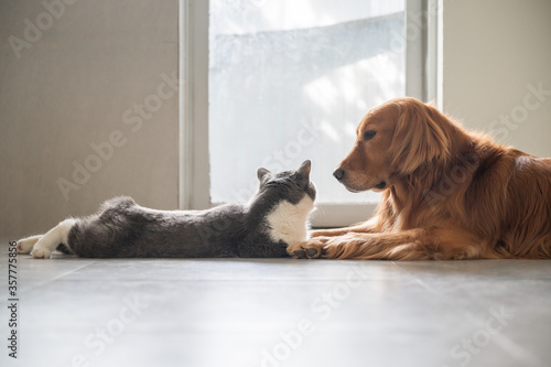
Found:
[[(436, 24), (442, 0), (404, 1), (406, 95), (424, 101), (434, 100), (437, 96)], [(210, 202), (208, 10), (208, 0), (180, 0), (179, 206), (181, 209), (205, 209), (219, 204)], [(316, 214), (312, 219), (314, 227), (339, 227), (366, 220), (375, 213), (377, 204), (317, 204), (316, 207)]]

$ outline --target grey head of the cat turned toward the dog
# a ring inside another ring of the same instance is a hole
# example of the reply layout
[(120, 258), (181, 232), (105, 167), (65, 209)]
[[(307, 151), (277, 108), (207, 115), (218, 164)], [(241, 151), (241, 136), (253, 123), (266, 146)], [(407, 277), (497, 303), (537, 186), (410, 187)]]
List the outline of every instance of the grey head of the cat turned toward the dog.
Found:
[(273, 199), (285, 199), (291, 204), (298, 204), (307, 195), (314, 202), (316, 192), (310, 181), (311, 168), (312, 162), (306, 160), (298, 170), (272, 173), (267, 169), (258, 169), (259, 194), (269, 194)]

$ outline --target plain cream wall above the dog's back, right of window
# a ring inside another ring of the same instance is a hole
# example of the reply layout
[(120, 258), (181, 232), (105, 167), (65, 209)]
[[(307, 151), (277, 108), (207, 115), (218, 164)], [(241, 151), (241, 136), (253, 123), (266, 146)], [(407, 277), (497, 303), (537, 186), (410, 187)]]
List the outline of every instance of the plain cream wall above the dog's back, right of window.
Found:
[[(444, 0), (443, 42), (444, 110), (551, 156), (551, 1)], [(543, 100), (529, 85), (547, 90)]]

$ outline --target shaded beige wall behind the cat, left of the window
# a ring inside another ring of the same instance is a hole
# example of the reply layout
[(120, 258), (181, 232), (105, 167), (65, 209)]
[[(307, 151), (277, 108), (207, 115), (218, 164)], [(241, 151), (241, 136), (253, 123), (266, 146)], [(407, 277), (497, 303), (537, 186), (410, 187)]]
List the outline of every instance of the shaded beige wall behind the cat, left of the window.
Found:
[[(177, 94), (164, 80), (177, 72), (177, 0), (65, 1), (45, 1), (53, 15), (42, 1), (0, 3), (2, 235), (44, 231), (114, 195), (177, 206)], [(73, 162), (97, 172), (75, 182)], [(62, 177), (78, 190), (63, 195)]]

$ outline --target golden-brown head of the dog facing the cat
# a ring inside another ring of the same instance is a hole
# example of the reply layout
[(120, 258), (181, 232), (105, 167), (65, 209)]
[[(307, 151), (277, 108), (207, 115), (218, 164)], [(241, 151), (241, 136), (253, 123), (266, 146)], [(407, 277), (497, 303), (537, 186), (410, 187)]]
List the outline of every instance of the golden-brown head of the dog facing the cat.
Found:
[(380, 191), (450, 155), (450, 121), (413, 98), (392, 99), (367, 112), (354, 148), (333, 175), (348, 191)]

